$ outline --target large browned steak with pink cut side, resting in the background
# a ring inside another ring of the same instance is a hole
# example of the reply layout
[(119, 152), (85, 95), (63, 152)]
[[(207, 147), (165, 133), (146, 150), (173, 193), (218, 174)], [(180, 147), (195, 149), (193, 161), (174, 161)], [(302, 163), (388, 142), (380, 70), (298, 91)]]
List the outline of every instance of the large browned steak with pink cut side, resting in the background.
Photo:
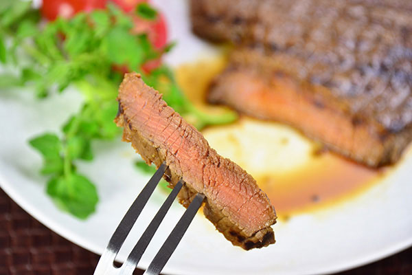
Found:
[(211, 102), (369, 166), (411, 141), (411, 1), (193, 0), (191, 12), (196, 34), (237, 45)]

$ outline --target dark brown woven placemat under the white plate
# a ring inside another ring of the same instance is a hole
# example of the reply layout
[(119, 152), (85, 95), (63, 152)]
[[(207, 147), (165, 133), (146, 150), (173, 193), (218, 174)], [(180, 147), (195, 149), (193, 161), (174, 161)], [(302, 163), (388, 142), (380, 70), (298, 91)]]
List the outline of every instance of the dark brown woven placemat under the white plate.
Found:
[[(0, 275), (87, 275), (98, 259), (36, 221), (0, 189)], [(412, 274), (412, 248), (339, 275), (360, 274)]]

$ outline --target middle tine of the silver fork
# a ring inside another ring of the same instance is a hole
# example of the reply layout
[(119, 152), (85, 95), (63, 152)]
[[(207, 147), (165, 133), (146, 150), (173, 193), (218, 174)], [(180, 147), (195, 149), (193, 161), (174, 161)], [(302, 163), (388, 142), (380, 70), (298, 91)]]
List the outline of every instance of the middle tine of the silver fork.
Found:
[(133, 273), (133, 270), (135, 270), (137, 263), (139, 263), (141, 256), (144, 254), (150, 241), (155, 235), (157, 228), (159, 228), (161, 221), (163, 221), (165, 214), (168, 212), (170, 206), (172, 206), (172, 203), (176, 196), (179, 194), (179, 191), (181, 190), (182, 186), (183, 179), (179, 180), (179, 182), (174, 186), (172, 192), (170, 192), (170, 195), (162, 204), (161, 208), (148, 225), (148, 228), (146, 228), (144, 233), (141, 235), (139, 241), (137, 241), (135, 245), (135, 248), (133, 248), (126, 262), (122, 265), (119, 275), (128, 275)]

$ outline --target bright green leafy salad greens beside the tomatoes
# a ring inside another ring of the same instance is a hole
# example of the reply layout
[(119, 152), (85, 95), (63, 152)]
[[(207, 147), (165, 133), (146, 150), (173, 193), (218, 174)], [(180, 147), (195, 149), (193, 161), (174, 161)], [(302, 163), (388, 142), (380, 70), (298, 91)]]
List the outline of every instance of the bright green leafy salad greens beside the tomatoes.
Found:
[[(147, 20), (157, 16), (147, 3), (135, 13)], [(44, 21), (31, 2), (0, 3), (0, 63), (8, 68), (0, 73), (0, 89), (32, 87), (38, 98), (47, 98), (76, 87), (84, 97), (80, 111), (68, 118), (60, 133), (43, 133), (30, 140), (43, 155), (41, 173), (49, 176), (47, 194), (80, 219), (95, 211), (98, 191), (78, 173), (76, 164), (93, 159), (93, 140), (117, 140), (121, 133), (113, 118), (122, 68), (141, 73), (171, 107), (190, 116), (198, 129), (236, 119), (231, 112), (212, 116), (196, 109), (166, 65), (144, 72), (145, 63), (160, 58), (172, 45), (156, 50), (146, 33), (133, 34), (133, 26), (133, 20), (116, 5), (80, 12), (71, 19)]]

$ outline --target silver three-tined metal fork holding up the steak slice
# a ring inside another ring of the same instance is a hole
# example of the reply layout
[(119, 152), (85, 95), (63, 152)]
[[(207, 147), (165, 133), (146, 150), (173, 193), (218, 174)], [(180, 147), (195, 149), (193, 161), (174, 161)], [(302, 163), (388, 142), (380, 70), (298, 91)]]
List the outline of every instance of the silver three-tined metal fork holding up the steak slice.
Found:
[[(177, 184), (174, 186), (172, 192), (168, 198), (164, 201), (163, 205), (152, 219), (144, 233), (141, 235), (139, 241), (137, 241), (135, 247), (133, 248), (132, 252), (128, 255), (128, 258), (123, 263), (121, 267), (115, 267), (114, 261), (119, 252), (120, 248), (122, 247), (128, 233), (133, 228), (137, 217), (143, 210), (144, 206), (148, 202), (148, 199), (152, 195), (152, 192), (155, 190), (157, 184), (159, 183), (161, 177), (165, 173), (165, 170), (168, 168), (168, 165), (163, 162), (161, 166), (157, 169), (156, 173), (150, 178), (146, 186), (144, 186), (143, 190), (141, 190), (139, 196), (135, 199), (132, 206), (128, 209), (126, 214), (124, 215), (122, 221), (120, 221), (119, 225), (117, 226), (115, 232), (111, 236), (110, 241), (108, 241), (108, 245), (106, 250), (104, 250), (98, 265), (96, 266), (95, 275), (130, 275), (133, 274), (137, 263), (141, 259), (141, 256), (144, 254), (144, 251), (148, 247), (152, 237), (155, 235), (157, 228), (165, 214), (168, 212), (172, 202), (179, 194), (182, 186), (185, 184), (183, 179), (180, 179)], [(192, 222), (196, 212), (201, 207), (203, 200), (205, 199), (205, 195), (201, 193), (197, 193), (190, 206), (187, 208), (185, 213), (183, 213), (181, 219), (176, 223), (176, 226), (168, 236), (168, 239), (163, 243), (159, 252), (157, 252), (155, 258), (150, 263), (144, 275), (153, 275), (159, 274), (165, 264), (172, 256), (172, 253), (176, 249), (177, 245), (181, 241), (183, 234), (185, 234), (187, 228), (189, 227), (190, 223)]]

